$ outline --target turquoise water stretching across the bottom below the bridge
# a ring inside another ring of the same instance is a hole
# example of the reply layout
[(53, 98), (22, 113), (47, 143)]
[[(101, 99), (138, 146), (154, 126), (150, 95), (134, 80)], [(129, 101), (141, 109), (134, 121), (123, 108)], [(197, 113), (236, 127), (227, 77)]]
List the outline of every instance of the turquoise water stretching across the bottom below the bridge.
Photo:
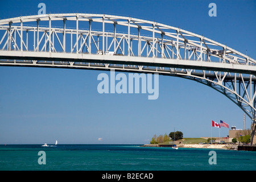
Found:
[[(0, 170), (256, 170), (256, 152), (128, 144), (0, 145)], [(46, 164), (39, 164), (39, 151)], [(209, 164), (210, 151), (216, 164)]]

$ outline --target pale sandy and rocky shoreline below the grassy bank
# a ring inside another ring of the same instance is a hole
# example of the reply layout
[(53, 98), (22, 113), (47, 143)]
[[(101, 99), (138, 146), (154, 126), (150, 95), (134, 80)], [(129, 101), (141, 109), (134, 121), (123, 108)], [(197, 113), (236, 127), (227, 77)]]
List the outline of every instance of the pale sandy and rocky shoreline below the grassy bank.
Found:
[[(237, 150), (238, 144), (176, 144), (179, 148), (215, 148), (225, 150)], [(144, 144), (141, 147), (172, 147), (168, 144)]]

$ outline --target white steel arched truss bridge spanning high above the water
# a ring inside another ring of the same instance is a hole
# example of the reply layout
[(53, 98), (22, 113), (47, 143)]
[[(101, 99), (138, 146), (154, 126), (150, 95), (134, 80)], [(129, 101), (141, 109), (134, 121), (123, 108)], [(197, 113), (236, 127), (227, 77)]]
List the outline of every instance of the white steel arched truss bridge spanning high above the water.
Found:
[(166, 24), (105, 14), (0, 20), (0, 66), (158, 73), (210, 86), (256, 122), (256, 60)]

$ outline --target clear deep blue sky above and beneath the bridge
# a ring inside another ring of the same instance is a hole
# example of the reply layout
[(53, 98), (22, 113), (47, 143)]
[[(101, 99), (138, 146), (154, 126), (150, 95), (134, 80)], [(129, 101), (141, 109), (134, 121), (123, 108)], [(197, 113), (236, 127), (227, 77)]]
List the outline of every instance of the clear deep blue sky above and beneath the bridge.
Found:
[[(127, 15), (180, 27), (256, 59), (255, 1), (0, 1), (0, 19), (46, 13)], [(217, 5), (210, 17), (209, 3)], [(182, 131), (209, 137), (211, 121), (243, 129), (243, 111), (195, 81), (159, 76), (159, 97), (99, 94), (102, 71), (0, 67), (0, 144), (148, 143), (154, 134)], [(110, 74), (109, 72), (106, 72)], [(250, 127), (246, 117), (246, 128)], [(218, 137), (219, 130), (212, 129)], [(228, 129), (221, 129), (221, 136)], [(98, 140), (102, 138), (102, 140)]]

